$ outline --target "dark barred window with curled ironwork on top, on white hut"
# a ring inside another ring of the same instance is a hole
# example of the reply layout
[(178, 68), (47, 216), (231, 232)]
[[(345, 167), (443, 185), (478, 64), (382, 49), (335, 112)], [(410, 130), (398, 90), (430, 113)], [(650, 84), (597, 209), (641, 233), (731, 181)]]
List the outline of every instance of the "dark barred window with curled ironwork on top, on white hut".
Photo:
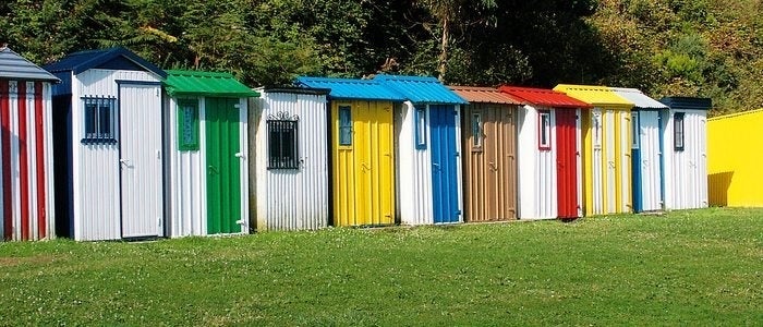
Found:
[(268, 169), (298, 169), (296, 117), (288, 114), (268, 117)]

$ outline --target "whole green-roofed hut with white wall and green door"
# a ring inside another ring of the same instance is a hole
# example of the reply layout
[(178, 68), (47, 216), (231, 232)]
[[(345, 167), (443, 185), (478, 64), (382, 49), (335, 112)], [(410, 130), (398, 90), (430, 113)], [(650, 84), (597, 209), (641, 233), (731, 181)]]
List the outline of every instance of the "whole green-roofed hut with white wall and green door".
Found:
[(229, 73), (167, 71), (165, 153), (170, 237), (249, 232), (247, 106)]

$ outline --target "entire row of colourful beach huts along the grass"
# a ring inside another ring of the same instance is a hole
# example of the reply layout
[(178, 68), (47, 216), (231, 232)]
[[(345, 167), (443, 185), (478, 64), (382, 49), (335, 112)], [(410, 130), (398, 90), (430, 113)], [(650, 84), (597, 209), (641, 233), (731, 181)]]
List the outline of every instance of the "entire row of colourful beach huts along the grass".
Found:
[(0, 51), (0, 232), (130, 240), (700, 208), (706, 98), (161, 70)]

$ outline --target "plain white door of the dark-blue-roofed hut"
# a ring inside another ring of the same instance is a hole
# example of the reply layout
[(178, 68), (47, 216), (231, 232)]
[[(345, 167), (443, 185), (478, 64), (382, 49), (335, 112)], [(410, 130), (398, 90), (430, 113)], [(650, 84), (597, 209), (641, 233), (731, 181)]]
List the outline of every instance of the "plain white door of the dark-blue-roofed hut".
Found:
[(119, 112), (122, 238), (162, 235), (161, 86), (121, 84)]

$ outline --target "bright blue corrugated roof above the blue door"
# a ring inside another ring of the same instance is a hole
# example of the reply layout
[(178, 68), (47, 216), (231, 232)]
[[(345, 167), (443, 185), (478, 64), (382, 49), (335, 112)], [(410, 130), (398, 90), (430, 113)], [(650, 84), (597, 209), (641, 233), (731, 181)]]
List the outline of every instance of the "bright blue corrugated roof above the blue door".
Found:
[(469, 104), (435, 77), (402, 76), (380, 74), (374, 77), (412, 102), (424, 104)]

